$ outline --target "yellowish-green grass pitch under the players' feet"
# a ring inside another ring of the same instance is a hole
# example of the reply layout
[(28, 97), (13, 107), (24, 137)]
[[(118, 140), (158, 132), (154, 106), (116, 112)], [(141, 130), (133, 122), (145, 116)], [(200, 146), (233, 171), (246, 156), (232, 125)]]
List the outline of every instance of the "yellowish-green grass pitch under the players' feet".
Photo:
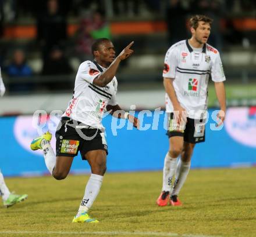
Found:
[(162, 172), (107, 173), (90, 211), (99, 223), (71, 223), (88, 175), (6, 178), (29, 198), (0, 207), (0, 236), (256, 236), (256, 169), (191, 170), (182, 207), (158, 207)]

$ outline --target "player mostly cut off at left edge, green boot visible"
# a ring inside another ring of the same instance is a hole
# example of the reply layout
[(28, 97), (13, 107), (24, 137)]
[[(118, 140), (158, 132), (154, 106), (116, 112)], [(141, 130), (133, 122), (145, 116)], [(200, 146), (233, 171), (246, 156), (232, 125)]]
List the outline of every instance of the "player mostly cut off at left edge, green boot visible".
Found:
[[(1, 68), (0, 68), (0, 96), (2, 97), (5, 94), (5, 84), (3, 84), (3, 79), (1, 75)], [(5, 184), (5, 179), (3, 178), (3, 174), (0, 170), (0, 196), (2, 196), (3, 206), (10, 207), (15, 205), (18, 202), (22, 202), (27, 198), (27, 194), (18, 195), (12, 194), (9, 191), (9, 188)]]

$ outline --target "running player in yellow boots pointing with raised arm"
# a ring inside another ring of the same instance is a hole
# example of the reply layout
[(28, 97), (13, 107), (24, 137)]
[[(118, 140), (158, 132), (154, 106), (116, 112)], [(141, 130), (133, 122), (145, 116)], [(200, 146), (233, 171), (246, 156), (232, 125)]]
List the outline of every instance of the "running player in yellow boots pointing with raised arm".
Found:
[(94, 60), (81, 63), (73, 98), (62, 115), (61, 128), (57, 128), (56, 156), (50, 144), (51, 133), (47, 132), (31, 143), (32, 150), (43, 151), (45, 165), (56, 180), (67, 176), (79, 151), (82, 159), (91, 166), (91, 176), (73, 223), (98, 223), (88, 215), (88, 210), (99, 193), (106, 171), (108, 146), (101, 123), (104, 112), (110, 111), (112, 116), (129, 119), (135, 127), (139, 126), (138, 119), (122, 111), (116, 101), (116, 71), (120, 61), (133, 53), (132, 45), (133, 42), (115, 57), (113, 43), (106, 38), (97, 39), (92, 45)]

